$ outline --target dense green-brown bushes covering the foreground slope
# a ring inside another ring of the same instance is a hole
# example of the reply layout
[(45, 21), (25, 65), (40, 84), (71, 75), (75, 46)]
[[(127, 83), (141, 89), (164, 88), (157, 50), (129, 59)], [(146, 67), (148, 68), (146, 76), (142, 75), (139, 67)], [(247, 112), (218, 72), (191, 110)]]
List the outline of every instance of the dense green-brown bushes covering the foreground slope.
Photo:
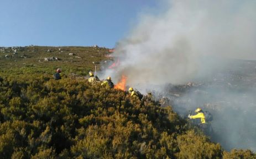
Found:
[(253, 158), (223, 152), (171, 107), (83, 79), (3, 76), (1, 158)]

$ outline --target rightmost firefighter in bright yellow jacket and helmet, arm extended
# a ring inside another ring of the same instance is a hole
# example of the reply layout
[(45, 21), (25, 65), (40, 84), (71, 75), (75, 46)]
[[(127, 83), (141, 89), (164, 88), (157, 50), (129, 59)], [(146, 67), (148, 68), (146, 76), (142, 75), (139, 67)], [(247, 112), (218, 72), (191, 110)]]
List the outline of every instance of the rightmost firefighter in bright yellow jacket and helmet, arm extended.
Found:
[(195, 110), (196, 115), (191, 116), (189, 114), (190, 119), (198, 119), (200, 118), (200, 123), (197, 124), (197, 126), (206, 134), (210, 135), (212, 133), (212, 127), (211, 124), (208, 123), (212, 120), (212, 114), (209, 112), (203, 112), (201, 108), (197, 108)]

